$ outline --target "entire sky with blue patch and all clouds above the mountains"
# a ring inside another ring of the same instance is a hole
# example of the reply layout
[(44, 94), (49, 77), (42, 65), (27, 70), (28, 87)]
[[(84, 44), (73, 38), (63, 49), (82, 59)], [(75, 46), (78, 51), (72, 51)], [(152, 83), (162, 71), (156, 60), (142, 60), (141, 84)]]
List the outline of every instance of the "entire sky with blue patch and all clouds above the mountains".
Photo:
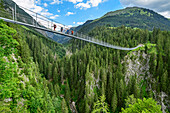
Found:
[(170, 0), (13, 0), (62, 24), (77, 26), (129, 6), (152, 9), (170, 18)]

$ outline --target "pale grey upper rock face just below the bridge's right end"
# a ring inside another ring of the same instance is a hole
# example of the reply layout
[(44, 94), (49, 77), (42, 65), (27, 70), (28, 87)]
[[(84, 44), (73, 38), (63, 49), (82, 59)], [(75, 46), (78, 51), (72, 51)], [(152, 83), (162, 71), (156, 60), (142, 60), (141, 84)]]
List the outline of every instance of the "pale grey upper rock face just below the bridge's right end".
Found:
[(128, 84), (129, 77), (136, 75), (138, 81), (143, 80), (146, 73), (149, 73), (150, 55), (145, 54), (143, 51), (134, 51), (125, 56), (124, 62), (126, 65), (125, 82)]

